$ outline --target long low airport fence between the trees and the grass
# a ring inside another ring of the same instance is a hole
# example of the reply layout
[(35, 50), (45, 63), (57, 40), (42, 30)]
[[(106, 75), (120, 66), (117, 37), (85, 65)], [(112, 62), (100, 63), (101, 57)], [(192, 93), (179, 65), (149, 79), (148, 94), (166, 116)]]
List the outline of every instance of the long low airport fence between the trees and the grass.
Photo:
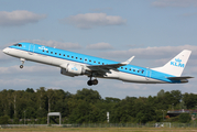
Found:
[(46, 128), (46, 127), (59, 127), (59, 128), (197, 128), (196, 123), (73, 123), (73, 124), (1, 124), (0, 128)]

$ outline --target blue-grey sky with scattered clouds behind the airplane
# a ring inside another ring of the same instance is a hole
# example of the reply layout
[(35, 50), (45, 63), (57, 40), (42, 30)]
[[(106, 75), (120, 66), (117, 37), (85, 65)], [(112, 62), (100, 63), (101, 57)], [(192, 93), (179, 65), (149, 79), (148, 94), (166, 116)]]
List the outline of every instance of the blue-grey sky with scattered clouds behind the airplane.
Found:
[[(0, 0), (0, 90), (40, 87), (72, 94), (83, 88), (102, 98), (156, 96), (180, 90), (197, 94), (196, 0)], [(98, 79), (87, 86), (87, 76), (67, 77), (58, 67), (25, 62), (2, 50), (19, 42), (55, 46), (131, 65), (158, 67), (183, 50), (193, 53), (183, 76), (188, 84), (132, 84)]]

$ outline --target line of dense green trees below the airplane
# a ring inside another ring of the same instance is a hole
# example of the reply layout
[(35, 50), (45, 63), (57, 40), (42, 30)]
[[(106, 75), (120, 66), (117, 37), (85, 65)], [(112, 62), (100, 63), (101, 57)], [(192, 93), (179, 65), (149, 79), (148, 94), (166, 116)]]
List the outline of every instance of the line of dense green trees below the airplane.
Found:
[(161, 122), (168, 110), (196, 109), (197, 95), (179, 90), (164, 91), (149, 97), (124, 99), (101, 98), (97, 90), (84, 88), (70, 94), (62, 89), (40, 87), (26, 90), (0, 91), (0, 123), (46, 123), (48, 112), (61, 112), (63, 123), (105, 123), (107, 112), (110, 123)]

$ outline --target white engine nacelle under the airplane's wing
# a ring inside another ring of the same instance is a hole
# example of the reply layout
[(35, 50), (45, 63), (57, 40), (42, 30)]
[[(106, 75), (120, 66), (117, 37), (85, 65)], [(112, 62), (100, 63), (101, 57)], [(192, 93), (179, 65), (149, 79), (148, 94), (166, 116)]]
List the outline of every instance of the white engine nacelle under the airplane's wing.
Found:
[(72, 77), (83, 75), (85, 72), (84, 67), (77, 64), (64, 64), (61, 68), (61, 74)]

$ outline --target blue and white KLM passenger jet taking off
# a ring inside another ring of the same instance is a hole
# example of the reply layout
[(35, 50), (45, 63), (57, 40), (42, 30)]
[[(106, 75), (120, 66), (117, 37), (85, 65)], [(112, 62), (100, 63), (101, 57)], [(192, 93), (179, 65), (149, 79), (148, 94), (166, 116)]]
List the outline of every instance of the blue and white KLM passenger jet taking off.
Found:
[[(61, 74), (75, 77), (86, 75), (89, 86), (97, 85), (97, 78), (119, 79), (140, 84), (180, 84), (188, 82), (189, 76), (180, 76), (191, 51), (184, 50), (167, 64), (156, 68), (144, 68), (129, 65), (132, 56), (125, 62), (118, 63), (109, 59), (63, 51), (33, 43), (18, 43), (6, 47), (3, 53), (20, 58), (23, 68), (25, 61), (57, 66)], [(94, 78), (94, 79), (92, 79)]]

